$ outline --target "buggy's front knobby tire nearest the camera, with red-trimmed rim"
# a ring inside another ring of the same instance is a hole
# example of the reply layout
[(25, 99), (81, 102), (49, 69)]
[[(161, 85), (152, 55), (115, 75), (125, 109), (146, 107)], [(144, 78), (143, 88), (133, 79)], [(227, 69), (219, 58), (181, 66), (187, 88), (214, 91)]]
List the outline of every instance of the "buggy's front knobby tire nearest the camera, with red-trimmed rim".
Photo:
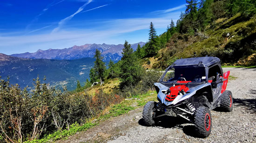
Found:
[(209, 108), (202, 106), (195, 111), (195, 131), (199, 137), (208, 137), (211, 133), (212, 121)]

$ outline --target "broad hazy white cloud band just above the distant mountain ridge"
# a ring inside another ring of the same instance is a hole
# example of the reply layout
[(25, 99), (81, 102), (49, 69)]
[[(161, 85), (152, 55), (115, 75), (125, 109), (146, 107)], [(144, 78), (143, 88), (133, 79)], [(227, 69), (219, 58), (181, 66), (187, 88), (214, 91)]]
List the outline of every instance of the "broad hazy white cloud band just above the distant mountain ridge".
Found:
[[(83, 8), (84, 7), (81, 9)], [(72, 14), (71, 18), (74, 17), (75, 14), (81, 12), (81, 9)], [(93, 43), (122, 44), (124, 40), (128, 40), (129, 42), (131, 41), (130, 43), (140, 41), (146, 42), (148, 40), (147, 34), (150, 22), (153, 22), (155, 25), (157, 34), (161, 34), (165, 31), (167, 25), (170, 24), (170, 19), (177, 20), (179, 15), (180, 12), (169, 12), (168, 14), (158, 15), (157, 18), (109, 19), (105, 21), (86, 20), (88, 25), (101, 26), (95, 26), (94, 28), (90, 27), (90, 29), (60, 29), (55, 32), (49, 31), (49, 33), (45, 33), (45, 31), (44, 34), (17, 36), (17, 34), (12, 33), (0, 33), (0, 53), (13, 54), (27, 51), (35, 52), (38, 49), (47, 50), (49, 48), (63, 49), (72, 47), (73, 45)], [(70, 16), (67, 18), (70, 18)], [(64, 21), (64, 23), (65, 22), (67, 21)], [(84, 22), (81, 21), (79, 23), (75, 23), (72, 27), (82, 27), (81, 25), (84, 25)], [(34, 31), (39, 31), (50, 26), (51, 25), (48, 25)], [(159, 32), (160, 30), (161, 32)], [(30, 31), (29, 33), (34, 31)], [(136, 33), (138, 31), (140, 31), (139, 33), (142, 32), (144, 34), (140, 34), (140, 36), (128, 34), (131, 32)]]

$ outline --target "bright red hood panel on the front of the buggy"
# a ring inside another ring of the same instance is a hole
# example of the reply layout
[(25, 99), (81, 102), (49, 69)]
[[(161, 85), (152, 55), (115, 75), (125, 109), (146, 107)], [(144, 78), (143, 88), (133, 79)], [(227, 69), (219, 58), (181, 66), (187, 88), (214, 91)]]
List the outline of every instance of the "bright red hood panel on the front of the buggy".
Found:
[[(182, 81), (182, 82), (184, 82), (184, 81)], [(187, 81), (186, 83), (188, 83), (188, 82), (191, 82), (191, 81)], [(168, 101), (173, 101), (177, 97), (179, 92), (182, 91), (182, 89), (185, 92), (187, 92), (189, 90), (189, 88), (186, 87), (186, 85), (179, 85), (179, 86), (177, 85), (175, 87), (170, 87), (171, 93), (169, 95), (167, 95), (165, 99), (168, 100)]]

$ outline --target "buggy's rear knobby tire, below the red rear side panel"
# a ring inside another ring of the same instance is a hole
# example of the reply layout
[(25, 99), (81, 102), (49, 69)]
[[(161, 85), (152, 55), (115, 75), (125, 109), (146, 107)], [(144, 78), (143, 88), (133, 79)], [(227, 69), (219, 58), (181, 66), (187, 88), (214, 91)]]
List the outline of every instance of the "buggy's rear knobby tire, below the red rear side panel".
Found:
[(221, 96), (220, 107), (224, 112), (231, 112), (233, 110), (233, 96), (231, 91), (225, 90)]

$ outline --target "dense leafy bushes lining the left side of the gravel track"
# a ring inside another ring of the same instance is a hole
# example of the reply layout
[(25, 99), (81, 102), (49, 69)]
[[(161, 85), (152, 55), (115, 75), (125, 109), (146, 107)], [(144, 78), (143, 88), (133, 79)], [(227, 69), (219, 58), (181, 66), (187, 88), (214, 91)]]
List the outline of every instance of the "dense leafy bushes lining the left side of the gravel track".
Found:
[(71, 124), (84, 124), (123, 99), (102, 90), (91, 96), (48, 87), (39, 78), (34, 81), (34, 89), (27, 91), (0, 78), (0, 142), (23, 142), (69, 130)]

